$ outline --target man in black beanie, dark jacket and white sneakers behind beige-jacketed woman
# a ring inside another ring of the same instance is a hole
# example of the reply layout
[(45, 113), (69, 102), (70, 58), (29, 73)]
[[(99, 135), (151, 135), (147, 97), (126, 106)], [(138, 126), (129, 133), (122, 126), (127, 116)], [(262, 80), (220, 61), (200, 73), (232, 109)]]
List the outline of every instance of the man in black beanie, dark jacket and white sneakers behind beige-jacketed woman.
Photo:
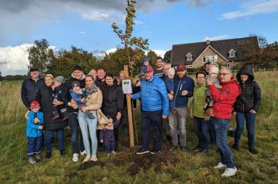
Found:
[(70, 89), (72, 89), (72, 82), (78, 81), (81, 88), (85, 88), (85, 75), (83, 68), (76, 65), (72, 68), (72, 78), (67, 80), (64, 84), (62, 91), (62, 100), (67, 104), (67, 112), (69, 117), (70, 129), (72, 131), (72, 161), (77, 162), (79, 160), (79, 151), (81, 155), (85, 154), (85, 148), (83, 145), (83, 138), (80, 132), (80, 149), (79, 149), (79, 122), (77, 120), (77, 104), (71, 102), (72, 97), (70, 95)]

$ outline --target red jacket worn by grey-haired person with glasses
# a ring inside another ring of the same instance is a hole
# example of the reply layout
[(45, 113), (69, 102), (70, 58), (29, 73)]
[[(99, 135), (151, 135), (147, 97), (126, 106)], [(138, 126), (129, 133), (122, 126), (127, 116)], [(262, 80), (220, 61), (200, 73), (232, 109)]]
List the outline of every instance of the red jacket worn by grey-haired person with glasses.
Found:
[(233, 104), (241, 93), (240, 86), (234, 77), (229, 82), (220, 84), (222, 89), (218, 91), (215, 85), (208, 86), (209, 91), (214, 99), (213, 114), (215, 118), (231, 119)]

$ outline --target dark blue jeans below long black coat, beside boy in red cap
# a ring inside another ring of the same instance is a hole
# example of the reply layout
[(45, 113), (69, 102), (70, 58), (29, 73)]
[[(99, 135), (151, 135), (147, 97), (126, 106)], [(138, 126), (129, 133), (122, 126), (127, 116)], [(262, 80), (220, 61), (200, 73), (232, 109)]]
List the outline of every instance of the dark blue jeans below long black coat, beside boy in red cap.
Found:
[(54, 135), (54, 131), (56, 131), (57, 140), (58, 140), (58, 148), (64, 149), (64, 129), (56, 129), (56, 130), (46, 130), (45, 133), (45, 151), (51, 151), (51, 143), (52, 137)]

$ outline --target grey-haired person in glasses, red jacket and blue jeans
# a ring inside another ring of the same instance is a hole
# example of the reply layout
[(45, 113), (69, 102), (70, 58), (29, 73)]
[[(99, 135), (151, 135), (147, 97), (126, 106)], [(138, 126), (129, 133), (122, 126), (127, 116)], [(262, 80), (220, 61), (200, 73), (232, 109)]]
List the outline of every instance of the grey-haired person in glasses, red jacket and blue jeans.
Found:
[(214, 168), (225, 168), (222, 177), (234, 176), (236, 174), (236, 167), (234, 165), (231, 151), (227, 145), (227, 129), (231, 120), (231, 112), (233, 111), (233, 104), (236, 102), (236, 98), (240, 95), (240, 86), (233, 77), (232, 71), (228, 67), (221, 67), (220, 69), (220, 81), (222, 89), (218, 91), (212, 80), (207, 80), (208, 89), (214, 99), (213, 114), (211, 117), (211, 123), (213, 125), (216, 144), (219, 148), (221, 162)]

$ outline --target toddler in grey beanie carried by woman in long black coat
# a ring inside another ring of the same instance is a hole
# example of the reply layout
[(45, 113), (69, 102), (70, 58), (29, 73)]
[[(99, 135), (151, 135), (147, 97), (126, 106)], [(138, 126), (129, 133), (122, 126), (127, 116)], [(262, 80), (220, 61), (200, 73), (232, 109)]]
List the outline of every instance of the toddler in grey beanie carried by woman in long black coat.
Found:
[[(55, 86), (55, 94), (54, 94), (54, 100), (53, 102), (62, 101), (62, 89), (63, 89), (63, 83), (64, 83), (64, 77), (58, 76), (54, 79), (54, 86)], [(67, 120), (67, 107), (65, 107), (65, 104), (59, 105), (59, 106), (51, 106), (51, 111), (53, 114), (52, 120), (55, 120), (60, 117), (58, 110), (63, 114), (63, 120)]]

